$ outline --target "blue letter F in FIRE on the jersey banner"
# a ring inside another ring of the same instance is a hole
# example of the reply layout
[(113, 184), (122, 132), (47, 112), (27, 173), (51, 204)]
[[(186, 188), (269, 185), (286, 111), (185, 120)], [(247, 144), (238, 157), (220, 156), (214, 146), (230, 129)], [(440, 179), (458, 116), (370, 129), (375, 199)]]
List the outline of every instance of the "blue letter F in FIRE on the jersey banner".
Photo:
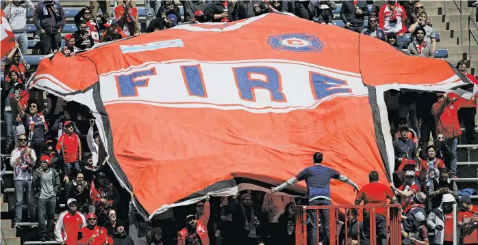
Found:
[(147, 87), (149, 78), (143, 76), (154, 76), (156, 69), (140, 70), (130, 74), (115, 76), (119, 97), (138, 96), (138, 87)]

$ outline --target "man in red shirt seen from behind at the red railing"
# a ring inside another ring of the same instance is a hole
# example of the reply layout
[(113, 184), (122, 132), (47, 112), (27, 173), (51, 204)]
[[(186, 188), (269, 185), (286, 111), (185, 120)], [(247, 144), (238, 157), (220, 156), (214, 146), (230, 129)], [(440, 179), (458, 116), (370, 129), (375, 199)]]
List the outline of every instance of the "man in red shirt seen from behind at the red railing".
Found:
[[(391, 200), (392, 203), (399, 203), (390, 187), (379, 183), (379, 173), (377, 171), (370, 171), (368, 182), (370, 183), (366, 184), (358, 192), (355, 198), (355, 205), (360, 205), (362, 201), (364, 201), (364, 205), (387, 204), (388, 200)], [(385, 208), (376, 208), (375, 212), (377, 244), (386, 244), (386, 210)], [(360, 244), (370, 242), (370, 214), (368, 212), (364, 214), (364, 230), (362, 234), (363, 241), (360, 241)]]

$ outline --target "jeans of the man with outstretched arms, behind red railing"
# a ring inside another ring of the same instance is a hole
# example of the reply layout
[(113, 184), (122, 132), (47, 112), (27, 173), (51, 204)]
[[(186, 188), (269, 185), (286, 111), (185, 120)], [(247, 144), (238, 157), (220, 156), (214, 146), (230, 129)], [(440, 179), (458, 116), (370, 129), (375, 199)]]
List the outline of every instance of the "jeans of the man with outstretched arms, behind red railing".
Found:
[[(332, 205), (328, 199), (315, 199), (309, 202), (309, 206), (329, 206)], [(320, 214), (320, 222), (323, 227), (323, 245), (329, 245), (329, 209), (318, 210)], [(317, 210), (307, 210), (307, 219), (310, 225), (310, 245), (317, 245)]]

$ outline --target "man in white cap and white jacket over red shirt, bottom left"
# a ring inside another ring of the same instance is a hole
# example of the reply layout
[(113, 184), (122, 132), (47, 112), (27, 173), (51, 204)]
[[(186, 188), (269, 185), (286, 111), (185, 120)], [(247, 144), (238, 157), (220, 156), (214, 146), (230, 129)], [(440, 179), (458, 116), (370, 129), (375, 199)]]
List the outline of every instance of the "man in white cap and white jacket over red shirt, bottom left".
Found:
[(56, 241), (62, 245), (75, 244), (79, 230), (86, 225), (86, 218), (83, 214), (77, 212), (77, 205), (76, 199), (68, 199), (66, 201), (68, 210), (58, 216), (55, 225), (55, 237)]

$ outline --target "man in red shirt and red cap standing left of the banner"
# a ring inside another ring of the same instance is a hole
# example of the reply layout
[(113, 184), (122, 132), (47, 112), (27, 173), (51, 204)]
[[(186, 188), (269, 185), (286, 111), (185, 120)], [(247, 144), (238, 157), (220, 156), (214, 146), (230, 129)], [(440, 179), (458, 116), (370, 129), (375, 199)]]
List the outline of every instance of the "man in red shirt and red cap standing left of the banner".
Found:
[[(74, 175), (79, 171), (79, 162), (81, 161), (81, 141), (79, 136), (75, 134), (75, 123), (73, 121), (65, 121), (65, 132), (58, 138), (56, 143), (56, 151), (62, 152), (64, 158), (65, 173), (68, 179), (73, 179)], [(75, 171), (71, 171), (71, 168)], [(74, 173), (73, 173), (74, 172)]]

